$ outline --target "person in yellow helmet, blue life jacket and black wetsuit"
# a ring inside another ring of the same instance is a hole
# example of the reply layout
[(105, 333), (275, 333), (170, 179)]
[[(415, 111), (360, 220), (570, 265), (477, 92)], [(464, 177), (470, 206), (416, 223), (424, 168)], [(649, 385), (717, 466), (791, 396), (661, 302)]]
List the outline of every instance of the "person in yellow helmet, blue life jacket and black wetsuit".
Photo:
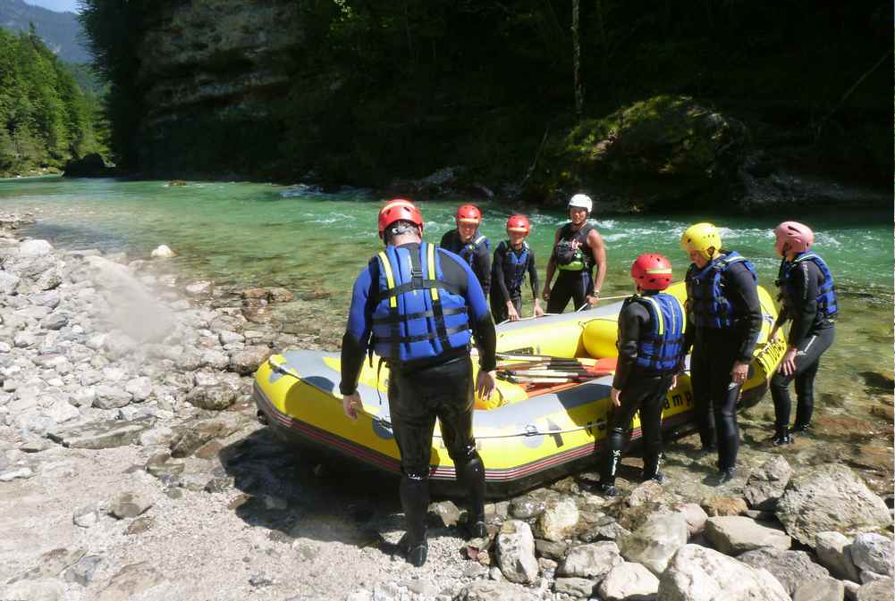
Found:
[[(718, 451), (718, 484), (735, 476), (739, 450), (737, 401), (762, 328), (752, 263), (721, 250), (712, 224), (695, 224), (680, 239), (693, 263), (686, 272), (685, 354), (703, 451)], [(717, 446), (716, 446), (717, 444)]]

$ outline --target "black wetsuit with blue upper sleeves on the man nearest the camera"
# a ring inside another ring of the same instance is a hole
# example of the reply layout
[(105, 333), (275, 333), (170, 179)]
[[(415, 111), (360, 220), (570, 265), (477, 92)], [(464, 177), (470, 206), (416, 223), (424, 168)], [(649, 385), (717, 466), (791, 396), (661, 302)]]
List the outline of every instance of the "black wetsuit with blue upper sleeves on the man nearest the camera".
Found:
[[(418, 252), (419, 245), (402, 245)], [(497, 335), (487, 301), (473, 271), (462, 258), (440, 251), (443, 281), (465, 298), (469, 325), (479, 349), (480, 367), (496, 367)], [(363, 361), (371, 343), (373, 310), (379, 303), (379, 261), (371, 260), (354, 283), (345, 336), (342, 338), (342, 379), (339, 390), (357, 390)], [(485, 469), (473, 438), (473, 364), (469, 349), (453, 349), (437, 357), (390, 363), (388, 407), (401, 455), (400, 494), (407, 520), (408, 544), (422, 546), (429, 507), (432, 433), (439, 419), (447, 453), (457, 478), (466, 487), (474, 521), (483, 521)]]

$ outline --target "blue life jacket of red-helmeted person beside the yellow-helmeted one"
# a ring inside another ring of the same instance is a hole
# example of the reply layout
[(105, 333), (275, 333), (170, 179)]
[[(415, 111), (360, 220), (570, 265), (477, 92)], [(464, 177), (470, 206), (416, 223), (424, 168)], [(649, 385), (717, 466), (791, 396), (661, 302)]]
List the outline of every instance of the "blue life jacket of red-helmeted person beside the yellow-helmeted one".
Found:
[(684, 308), (671, 294), (660, 292), (632, 296), (625, 301), (639, 302), (650, 312), (652, 328), (640, 334), (635, 365), (647, 371), (669, 374), (675, 371), (684, 354)]

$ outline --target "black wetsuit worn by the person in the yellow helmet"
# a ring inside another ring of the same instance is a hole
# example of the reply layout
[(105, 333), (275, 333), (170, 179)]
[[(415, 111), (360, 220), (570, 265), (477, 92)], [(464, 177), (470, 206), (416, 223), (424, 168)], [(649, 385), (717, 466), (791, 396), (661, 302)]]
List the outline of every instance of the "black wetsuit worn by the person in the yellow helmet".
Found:
[(735, 362), (752, 360), (755, 342), (762, 329), (762, 305), (753, 276), (741, 262), (730, 264), (722, 273), (721, 287), (737, 316), (734, 325), (729, 328), (695, 327), (693, 319), (687, 315), (684, 348), (693, 346), (690, 379), (699, 437), (705, 449), (717, 442), (718, 467), (726, 471), (737, 465), (737, 401), (742, 388), (742, 385), (733, 383), (730, 371)]

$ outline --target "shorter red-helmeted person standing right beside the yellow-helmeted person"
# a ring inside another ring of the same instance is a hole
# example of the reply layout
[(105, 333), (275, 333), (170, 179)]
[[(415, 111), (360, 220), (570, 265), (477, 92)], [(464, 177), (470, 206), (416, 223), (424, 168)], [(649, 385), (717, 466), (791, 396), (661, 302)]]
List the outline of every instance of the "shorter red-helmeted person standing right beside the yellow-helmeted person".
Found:
[(625, 300), (618, 314), (618, 366), (609, 392), (613, 406), (597, 484), (607, 496), (618, 494), (616, 471), (636, 411), (643, 432), (643, 480), (662, 481), (662, 407), (684, 359), (684, 308), (677, 298), (661, 292), (671, 284), (669, 259), (641, 255), (631, 266), (631, 277), (637, 293)]

